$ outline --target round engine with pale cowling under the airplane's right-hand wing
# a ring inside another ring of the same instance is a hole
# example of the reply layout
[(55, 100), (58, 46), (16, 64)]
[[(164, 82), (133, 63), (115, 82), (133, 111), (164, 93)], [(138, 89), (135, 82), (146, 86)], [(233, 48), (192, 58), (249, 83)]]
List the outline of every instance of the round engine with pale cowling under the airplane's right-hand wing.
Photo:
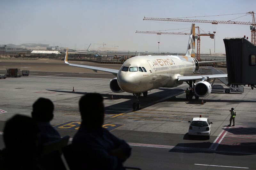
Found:
[(199, 97), (206, 97), (212, 92), (212, 86), (207, 81), (199, 81), (194, 87), (195, 93)]

